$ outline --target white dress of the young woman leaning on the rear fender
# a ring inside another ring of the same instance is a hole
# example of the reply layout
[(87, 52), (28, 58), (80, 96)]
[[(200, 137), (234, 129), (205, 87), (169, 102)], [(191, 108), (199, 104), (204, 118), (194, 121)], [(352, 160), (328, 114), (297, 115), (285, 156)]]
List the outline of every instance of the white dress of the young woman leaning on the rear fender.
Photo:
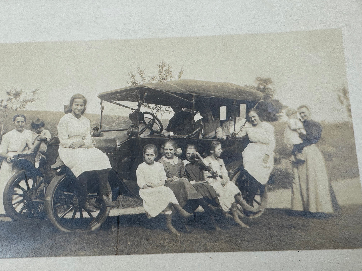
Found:
[[(267, 122), (260, 122), (257, 126), (247, 123), (238, 137), (248, 135), (250, 143), (242, 152), (244, 169), (260, 184), (269, 181), (274, 166), (275, 136), (274, 127)], [(269, 156), (264, 164), (265, 155)]]

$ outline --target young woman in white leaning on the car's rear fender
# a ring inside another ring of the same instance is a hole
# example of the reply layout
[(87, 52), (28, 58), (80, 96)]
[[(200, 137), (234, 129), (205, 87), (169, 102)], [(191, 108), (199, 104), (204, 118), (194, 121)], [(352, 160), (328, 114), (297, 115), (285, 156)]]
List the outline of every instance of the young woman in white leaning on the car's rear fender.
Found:
[(248, 198), (245, 201), (253, 206), (253, 198), (257, 190), (269, 181), (274, 167), (275, 135), (274, 127), (261, 121), (255, 109), (248, 113), (247, 122), (235, 137), (248, 136), (250, 143), (241, 153), (243, 156), (244, 173), (249, 181)]

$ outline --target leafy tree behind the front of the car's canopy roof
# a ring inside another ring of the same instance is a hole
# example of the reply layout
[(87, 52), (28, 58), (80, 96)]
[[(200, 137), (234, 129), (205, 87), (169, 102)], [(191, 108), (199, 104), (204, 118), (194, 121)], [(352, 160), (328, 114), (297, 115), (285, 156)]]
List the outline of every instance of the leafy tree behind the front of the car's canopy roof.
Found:
[[(137, 72), (129, 72), (128, 75), (130, 77), (130, 81), (127, 82), (129, 86), (136, 86), (136, 85), (143, 85), (147, 83), (155, 83), (155, 82), (167, 82), (174, 80), (174, 76), (172, 74), (172, 66), (170, 64), (165, 63), (164, 61), (161, 61), (158, 65), (158, 72), (156, 75), (148, 76), (146, 78), (146, 74), (144, 72), (144, 69), (141, 69), (140, 67), (137, 67)], [(180, 72), (177, 74), (177, 79), (180, 80), (182, 77), (182, 74), (184, 73), (184, 70), (181, 67)], [(158, 114), (161, 115), (161, 117), (165, 113), (172, 113), (172, 109), (169, 106), (158, 106), (156, 104), (143, 104), (144, 108), (147, 108), (148, 110), (151, 110), (152, 114), (155, 114), (156, 116)]]

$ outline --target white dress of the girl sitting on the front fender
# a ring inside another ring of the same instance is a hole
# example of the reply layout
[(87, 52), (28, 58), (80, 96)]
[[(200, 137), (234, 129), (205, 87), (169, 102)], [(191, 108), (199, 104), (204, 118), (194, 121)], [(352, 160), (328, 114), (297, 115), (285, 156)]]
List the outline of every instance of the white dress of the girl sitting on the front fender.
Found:
[[(93, 170), (110, 169), (109, 158), (92, 146), (90, 121), (81, 116), (77, 119), (71, 113), (64, 115), (58, 123), (59, 157), (71, 169), (75, 177)], [(73, 142), (83, 140), (87, 148), (71, 149)]]

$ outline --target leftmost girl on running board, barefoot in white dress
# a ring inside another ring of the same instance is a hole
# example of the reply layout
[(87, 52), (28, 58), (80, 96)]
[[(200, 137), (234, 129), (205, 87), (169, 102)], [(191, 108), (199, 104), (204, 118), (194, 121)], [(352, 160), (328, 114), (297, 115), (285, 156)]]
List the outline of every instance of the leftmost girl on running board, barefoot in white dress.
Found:
[(167, 180), (164, 167), (161, 163), (155, 162), (157, 148), (149, 144), (143, 148), (143, 160), (136, 170), (137, 185), (139, 186), (139, 195), (143, 200), (143, 208), (148, 218), (153, 218), (164, 212), (166, 215), (167, 228), (173, 234), (179, 235), (175, 228), (172, 227), (172, 210), (173, 206), (182, 216), (190, 217), (189, 214), (178, 204), (178, 201), (172, 190), (164, 186)]

